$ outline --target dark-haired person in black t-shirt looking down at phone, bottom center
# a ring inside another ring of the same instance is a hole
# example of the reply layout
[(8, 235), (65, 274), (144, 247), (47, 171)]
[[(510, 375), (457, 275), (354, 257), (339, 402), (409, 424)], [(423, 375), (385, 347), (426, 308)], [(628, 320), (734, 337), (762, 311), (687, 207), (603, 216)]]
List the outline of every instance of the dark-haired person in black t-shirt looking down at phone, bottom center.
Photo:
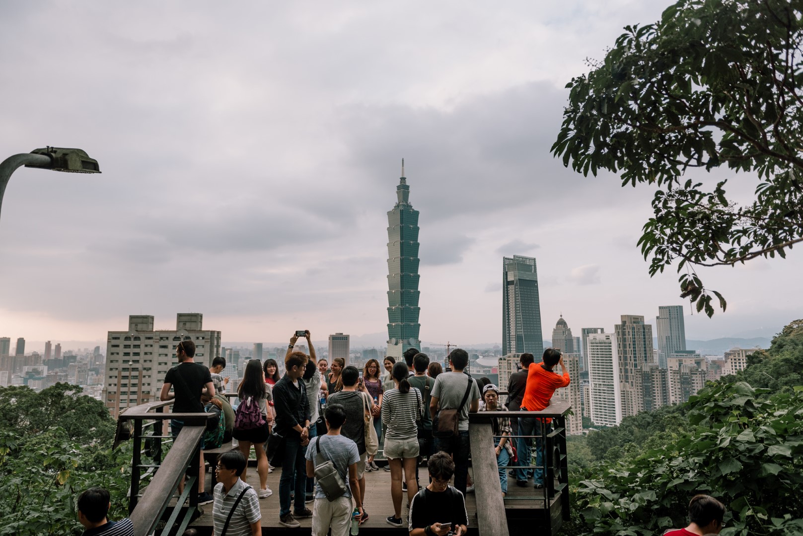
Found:
[(468, 513), (463, 493), (449, 485), (454, 461), (444, 453), (434, 453), (427, 462), (432, 481), (410, 502), (410, 536), (454, 536), (466, 534)]

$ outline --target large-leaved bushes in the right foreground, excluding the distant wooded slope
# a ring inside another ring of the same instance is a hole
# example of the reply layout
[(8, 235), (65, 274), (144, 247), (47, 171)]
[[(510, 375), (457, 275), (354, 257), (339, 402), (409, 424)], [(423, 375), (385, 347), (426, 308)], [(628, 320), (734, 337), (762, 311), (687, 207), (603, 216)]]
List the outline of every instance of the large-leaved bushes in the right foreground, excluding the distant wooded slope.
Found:
[(711, 385), (689, 400), (693, 432), (581, 481), (575, 506), (589, 524), (587, 534), (686, 526), (684, 505), (694, 493), (728, 506), (726, 536), (798, 534), (803, 387), (768, 398), (764, 392), (741, 382)]

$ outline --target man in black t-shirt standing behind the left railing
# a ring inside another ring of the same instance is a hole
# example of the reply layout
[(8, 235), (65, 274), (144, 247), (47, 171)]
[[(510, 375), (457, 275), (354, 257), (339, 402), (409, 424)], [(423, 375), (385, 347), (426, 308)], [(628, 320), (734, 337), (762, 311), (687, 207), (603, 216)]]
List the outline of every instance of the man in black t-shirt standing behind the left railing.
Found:
[[(165, 375), (165, 384), (161, 386), (160, 400), (175, 400), (173, 402), (173, 413), (203, 413), (204, 408), (201, 404), (201, 392), (206, 387), (209, 396), (214, 396), (214, 384), (209, 368), (201, 363), (195, 363), (195, 343), (191, 340), (183, 340), (176, 345), (176, 356), (178, 364), (171, 368)], [(173, 392), (170, 388), (173, 387)], [(173, 437), (181, 432), (184, 421), (173, 419), (170, 421), (170, 433)], [(203, 449), (203, 439), (201, 449)], [(203, 467), (203, 452), (201, 453), (200, 465)], [(203, 473), (203, 471), (201, 471)], [(204, 479), (198, 478), (198, 504), (212, 502), (212, 495), (204, 492)], [(180, 492), (184, 491), (184, 481), (178, 484)]]

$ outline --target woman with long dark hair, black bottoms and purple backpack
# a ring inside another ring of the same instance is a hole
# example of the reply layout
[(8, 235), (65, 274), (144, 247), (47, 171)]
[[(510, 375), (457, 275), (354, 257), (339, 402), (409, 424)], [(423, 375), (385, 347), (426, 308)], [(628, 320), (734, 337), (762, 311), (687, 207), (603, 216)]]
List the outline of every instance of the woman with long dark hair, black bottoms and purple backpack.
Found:
[[(237, 388), (237, 397), (240, 404), (259, 404), (259, 411), (265, 419), (265, 425), (257, 428), (238, 429), (234, 426), (232, 436), (239, 441), (240, 452), (248, 459), (251, 453), (251, 445), (254, 445), (256, 453), (256, 472), (259, 473), (259, 491), (257, 495), (260, 499), (270, 497), (271, 491), (267, 487), (267, 454), (265, 453), (265, 441), (267, 441), (267, 401), (273, 400), (271, 396), (271, 386), (265, 383), (265, 372), (259, 359), (251, 359), (246, 365), (246, 372), (243, 373), (243, 381)], [(236, 420), (235, 420), (236, 422)], [(243, 482), (246, 481), (246, 470), (240, 475)]]

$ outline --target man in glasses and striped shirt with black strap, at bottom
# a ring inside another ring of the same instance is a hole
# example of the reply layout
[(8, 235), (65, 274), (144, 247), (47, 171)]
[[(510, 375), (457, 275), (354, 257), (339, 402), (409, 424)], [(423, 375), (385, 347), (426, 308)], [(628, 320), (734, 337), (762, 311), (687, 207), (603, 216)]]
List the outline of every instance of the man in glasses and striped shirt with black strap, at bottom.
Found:
[[(212, 523), (214, 532), (226, 536), (260, 536), (262, 514), (256, 491), (240, 478), (246, 458), (238, 450), (222, 453), (214, 468), (218, 484), (214, 486)], [(234, 514), (231, 511), (234, 510)], [(226, 520), (228, 519), (228, 522)]]

